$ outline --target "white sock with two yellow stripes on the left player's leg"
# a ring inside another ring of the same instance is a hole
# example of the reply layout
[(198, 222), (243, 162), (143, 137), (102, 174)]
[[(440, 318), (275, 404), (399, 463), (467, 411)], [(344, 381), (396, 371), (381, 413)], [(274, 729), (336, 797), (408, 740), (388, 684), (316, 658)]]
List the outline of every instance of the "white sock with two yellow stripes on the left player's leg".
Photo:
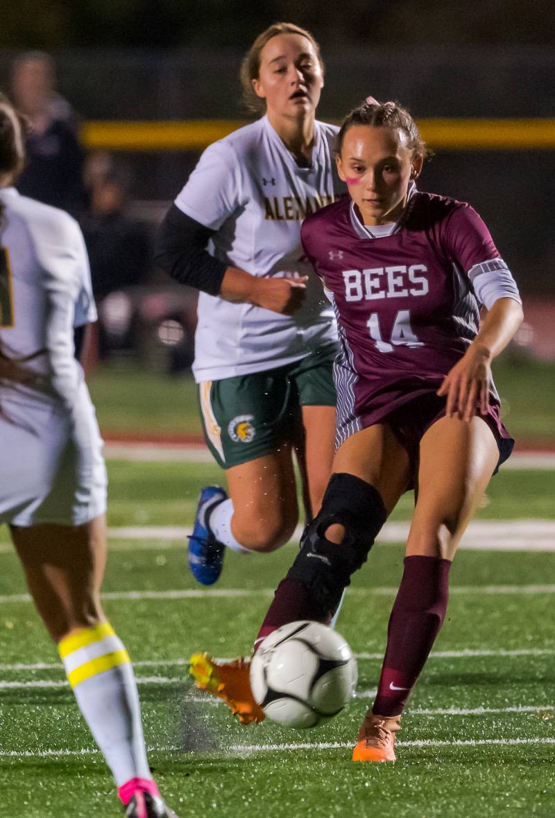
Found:
[(69, 684), (118, 787), (151, 779), (137, 682), (127, 650), (108, 622), (58, 645)]

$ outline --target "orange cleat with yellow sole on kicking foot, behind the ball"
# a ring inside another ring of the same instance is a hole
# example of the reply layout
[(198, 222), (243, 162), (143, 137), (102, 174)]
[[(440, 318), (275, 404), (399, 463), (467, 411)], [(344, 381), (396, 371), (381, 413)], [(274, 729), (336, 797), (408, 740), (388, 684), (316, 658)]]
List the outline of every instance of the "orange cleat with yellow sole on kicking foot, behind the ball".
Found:
[(208, 690), (222, 699), (242, 725), (264, 721), (266, 715), (254, 699), (248, 672), (250, 660), (217, 662), (208, 654), (195, 654), (189, 660), (189, 672), (199, 690)]

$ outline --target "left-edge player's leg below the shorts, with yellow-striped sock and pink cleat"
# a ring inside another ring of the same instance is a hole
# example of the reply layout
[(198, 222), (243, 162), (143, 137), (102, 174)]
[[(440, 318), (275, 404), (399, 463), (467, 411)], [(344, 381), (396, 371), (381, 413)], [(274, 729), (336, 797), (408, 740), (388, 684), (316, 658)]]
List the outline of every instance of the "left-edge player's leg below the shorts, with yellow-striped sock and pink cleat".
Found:
[(69, 684), (114, 774), (126, 814), (170, 818), (150, 775), (127, 650), (106, 622), (101, 582), (105, 515), (78, 526), (11, 528), (29, 592), (58, 645)]

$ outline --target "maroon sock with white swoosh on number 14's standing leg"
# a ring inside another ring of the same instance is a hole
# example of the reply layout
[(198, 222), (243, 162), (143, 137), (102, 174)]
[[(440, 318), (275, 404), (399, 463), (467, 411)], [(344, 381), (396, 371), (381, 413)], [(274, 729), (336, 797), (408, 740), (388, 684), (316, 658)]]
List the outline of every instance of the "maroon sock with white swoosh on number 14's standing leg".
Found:
[(450, 567), (439, 557), (405, 557), (372, 708), (378, 716), (398, 716), (405, 707), (445, 617)]

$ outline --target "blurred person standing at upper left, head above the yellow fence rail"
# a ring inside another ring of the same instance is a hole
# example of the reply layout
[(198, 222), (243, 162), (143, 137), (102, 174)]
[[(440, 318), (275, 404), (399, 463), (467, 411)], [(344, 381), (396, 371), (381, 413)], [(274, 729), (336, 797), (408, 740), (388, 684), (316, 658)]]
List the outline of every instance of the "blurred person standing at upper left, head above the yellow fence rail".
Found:
[(56, 92), (56, 70), (51, 56), (43, 52), (17, 56), (11, 95), (29, 124), (25, 134), (27, 159), (17, 189), (23, 196), (78, 216), (87, 201), (83, 151), (78, 143), (74, 111)]

